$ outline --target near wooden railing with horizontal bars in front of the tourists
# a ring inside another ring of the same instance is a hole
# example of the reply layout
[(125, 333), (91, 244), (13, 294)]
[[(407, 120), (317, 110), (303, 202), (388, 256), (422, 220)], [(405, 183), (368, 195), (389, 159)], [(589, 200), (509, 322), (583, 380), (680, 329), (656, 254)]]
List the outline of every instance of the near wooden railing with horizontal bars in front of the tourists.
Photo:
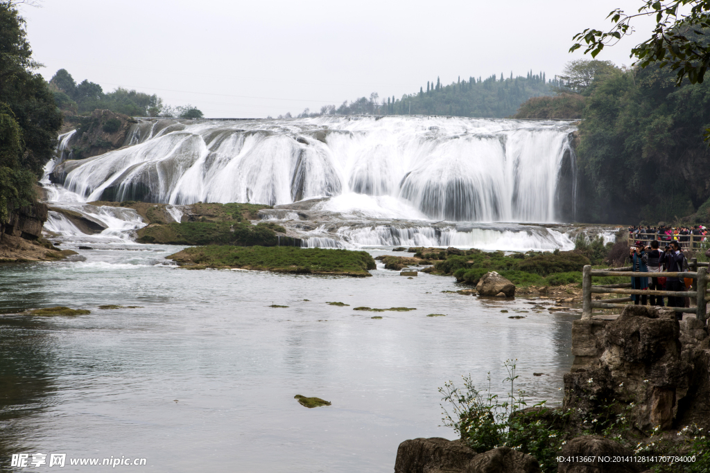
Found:
[[(624, 308), (627, 304), (622, 302), (633, 301), (631, 297), (619, 299), (591, 299), (592, 294), (628, 294), (633, 296), (663, 296), (663, 297), (692, 297), (696, 301), (695, 307), (674, 307), (676, 312), (694, 313), (701, 321), (707, 318), (707, 303), (710, 301), (710, 291), (708, 291), (708, 266), (709, 263), (697, 262), (695, 258), (688, 263), (690, 269), (687, 272), (634, 272), (631, 267), (591, 269), (586, 265), (582, 269), (582, 318), (591, 318), (594, 308)], [(630, 289), (631, 284), (606, 284), (594, 286), (591, 284), (592, 277), (679, 277), (691, 278), (693, 284), (690, 291), (651, 291), (649, 289)]]

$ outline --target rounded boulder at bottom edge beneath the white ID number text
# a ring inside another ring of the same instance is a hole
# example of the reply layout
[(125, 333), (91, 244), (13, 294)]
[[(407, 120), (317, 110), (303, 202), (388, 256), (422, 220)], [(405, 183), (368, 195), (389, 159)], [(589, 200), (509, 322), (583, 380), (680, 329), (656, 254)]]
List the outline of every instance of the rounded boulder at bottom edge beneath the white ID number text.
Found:
[(599, 457), (633, 457), (633, 452), (598, 435), (582, 435), (569, 440), (560, 457), (589, 457), (587, 462), (559, 462), (558, 473), (640, 473), (643, 467), (634, 462), (601, 462)]

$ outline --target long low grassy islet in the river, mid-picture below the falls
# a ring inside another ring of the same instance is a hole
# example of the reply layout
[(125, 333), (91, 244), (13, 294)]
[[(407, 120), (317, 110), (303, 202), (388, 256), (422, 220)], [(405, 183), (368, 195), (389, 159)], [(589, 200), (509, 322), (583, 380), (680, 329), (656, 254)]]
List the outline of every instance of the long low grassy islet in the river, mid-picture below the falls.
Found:
[(368, 269), (376, 269), (375, 260), (364, 251), (283, 246), (200, 246), (185, 248), (169, 256), (168, 259), (190, 269), (263, 269), (296, 274), (339, 274), (358, 277), (371, 276)]

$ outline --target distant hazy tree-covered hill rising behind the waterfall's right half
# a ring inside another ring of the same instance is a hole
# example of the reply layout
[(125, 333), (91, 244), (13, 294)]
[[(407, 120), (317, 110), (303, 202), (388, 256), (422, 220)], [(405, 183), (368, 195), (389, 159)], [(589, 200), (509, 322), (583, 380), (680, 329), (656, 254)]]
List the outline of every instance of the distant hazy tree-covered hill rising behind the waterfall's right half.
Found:
[[(531, 97), (549, 96), (562, 87), (557, 78), (547, 79), (545, 72), (526, 77), (498, 77), (496, 74), (481, 79), (458, 78), (456, 82), (444, 85), (437, 77), (437, 82), (427, 82), (426, 89), (420, 87), (415, 94), (405, 94), (399, 99), (395, 96), (380, 99), (379, 94), (370, 94), (370, 98), (361, 97), (355, 101), (344, 101), (340, 106), (322, 106), (319, 112), (306, 108), (299, 117), (321, 115), (448, 115), (471, 116), (480, 118), (506, 118), (518, 110), (518, 106)], [(279, 118), (290, 118), (290, 113)]]

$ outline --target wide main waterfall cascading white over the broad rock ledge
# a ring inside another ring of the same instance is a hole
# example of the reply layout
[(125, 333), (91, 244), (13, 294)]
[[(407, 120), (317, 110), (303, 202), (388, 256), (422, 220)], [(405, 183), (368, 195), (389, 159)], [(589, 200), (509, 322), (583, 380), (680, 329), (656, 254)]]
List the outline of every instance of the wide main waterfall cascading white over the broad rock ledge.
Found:
[(67, 162), (62, 178), (87, 201), (278, 205), (334, 196), (322, 210), (553, 222), (562, 219), (558, 201), (574, 199), (559, 194), (564, 168), (574, 167), (572, 130), (560, 121), (400, 116), (142, 122), (131, 146)]

